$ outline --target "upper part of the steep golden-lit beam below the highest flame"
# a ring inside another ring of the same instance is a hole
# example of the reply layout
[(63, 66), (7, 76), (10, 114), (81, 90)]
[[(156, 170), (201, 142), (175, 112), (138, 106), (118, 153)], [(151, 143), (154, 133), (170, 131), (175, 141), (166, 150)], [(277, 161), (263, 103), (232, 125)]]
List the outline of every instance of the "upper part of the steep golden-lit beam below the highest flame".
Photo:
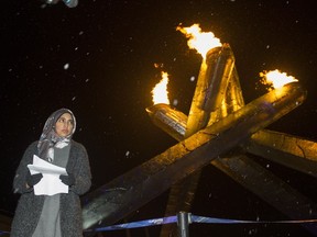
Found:
[(200, 66), (185, 137), (206, 127), (210, 113), (221, 108), (233, 67), (234, 56), (229, 44), (207, 53)]

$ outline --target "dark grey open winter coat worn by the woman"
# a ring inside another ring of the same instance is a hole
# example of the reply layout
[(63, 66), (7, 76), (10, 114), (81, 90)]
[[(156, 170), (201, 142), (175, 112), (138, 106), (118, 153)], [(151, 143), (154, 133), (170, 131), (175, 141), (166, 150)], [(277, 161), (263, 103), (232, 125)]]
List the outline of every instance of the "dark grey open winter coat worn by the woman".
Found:
[[(33, 189), (26, 189), (28, 165), (37, 155), (37, 142), (25, 150), (13, 181), (13, 191), (20, 193), (11, 227), (11, 237), (31, 237), (41, 216), (44, 195), (34, 195)], [(61, 193), (61, 229), (63, 237), (83, 236), (83, 216), (79, 195), (86, 193), (91, 185), (91, 173), (85, 147), (72, 140), (66, 170), (75, 176), (75, 184), (68, 193)]]

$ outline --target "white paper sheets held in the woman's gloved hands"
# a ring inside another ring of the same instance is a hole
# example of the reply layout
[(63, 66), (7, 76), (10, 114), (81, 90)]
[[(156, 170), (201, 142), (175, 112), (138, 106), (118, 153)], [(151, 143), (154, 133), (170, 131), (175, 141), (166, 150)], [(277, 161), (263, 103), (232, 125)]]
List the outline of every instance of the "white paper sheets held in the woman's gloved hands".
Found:
[(35, 195), (68, 193), (68, 185), (59, 180), (61, 174), (67, 176), (65, 168), (50, 163), (36, 155), (33, 156), (33, 165), (28, 165), (28, 168), (31, 174), (43, 174), (41, 181), (33, 187)]

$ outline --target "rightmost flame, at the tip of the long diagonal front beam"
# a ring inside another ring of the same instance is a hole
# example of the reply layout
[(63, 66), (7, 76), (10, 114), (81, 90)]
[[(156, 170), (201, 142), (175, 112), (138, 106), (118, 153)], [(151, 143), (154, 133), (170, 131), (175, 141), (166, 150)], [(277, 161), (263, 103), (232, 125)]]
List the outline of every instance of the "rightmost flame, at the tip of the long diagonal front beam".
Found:
[(280, 70), (271, 70), (269, 72), (260, 72), (260, 77), (262, 77), (261, 82), (263, 84), (269, 84), (273, 88), (282, 88), (284, 84), (298, 81), (293, 76), (287, 76), (286, 72), (281, 72)]

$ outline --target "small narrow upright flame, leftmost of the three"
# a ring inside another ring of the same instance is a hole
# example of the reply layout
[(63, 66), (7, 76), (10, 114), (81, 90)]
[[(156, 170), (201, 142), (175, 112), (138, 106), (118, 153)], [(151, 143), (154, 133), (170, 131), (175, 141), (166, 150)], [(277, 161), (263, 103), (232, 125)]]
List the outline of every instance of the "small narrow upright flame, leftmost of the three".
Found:
[(161, 75), (162, 75), (162, 80), (152, 90), (153, 103), (154, 104), (157, 104), (157, 103), (170, 104), (168, 91), (167, 91), (168, 74), (165, 71), (162, 71)]

